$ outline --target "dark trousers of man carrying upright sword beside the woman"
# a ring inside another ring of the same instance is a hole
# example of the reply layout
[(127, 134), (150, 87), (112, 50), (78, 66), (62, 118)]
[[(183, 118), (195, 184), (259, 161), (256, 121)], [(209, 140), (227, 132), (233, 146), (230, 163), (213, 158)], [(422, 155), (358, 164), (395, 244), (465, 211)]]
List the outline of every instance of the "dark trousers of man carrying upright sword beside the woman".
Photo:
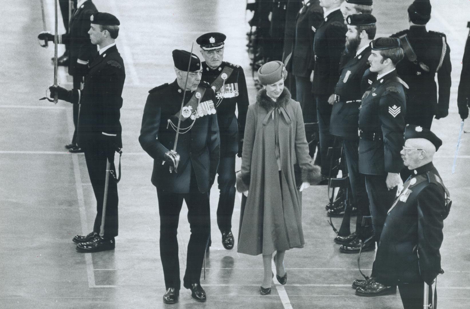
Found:
[(193, 283), (200, 283), (205, 248), (211, 232), (209, 194), (199, 192), (193, 171), (189, 193), (173, 193), (157, 187), (157, 196), (160, 214), (160, 258), (165, 287), (180, 290), (180, 261), (176, 235), (183, 199), (188, 206), (188, 222), (191, 230), (183, 285), (188, 287)]

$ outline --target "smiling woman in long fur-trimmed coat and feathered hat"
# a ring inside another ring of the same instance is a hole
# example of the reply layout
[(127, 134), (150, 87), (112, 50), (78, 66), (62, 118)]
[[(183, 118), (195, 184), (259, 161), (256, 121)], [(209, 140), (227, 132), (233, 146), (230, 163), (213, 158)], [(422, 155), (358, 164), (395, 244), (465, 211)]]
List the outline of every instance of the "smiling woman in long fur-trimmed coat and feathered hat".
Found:
[(259, 68), (264, 88), (248, 107), (242, 168), (237, 174), (237, 190), (247, 196), (240, 214), (238, 252), (263, 254), (261, 295), (271, 293), (274, 251), (276, 278), (286, 283), (285, 251), (305, 243), (299, 191), (321, 179), (320, 168), (308, 154), (300, 103), (284, 88), (286, 77), (280, 61)]

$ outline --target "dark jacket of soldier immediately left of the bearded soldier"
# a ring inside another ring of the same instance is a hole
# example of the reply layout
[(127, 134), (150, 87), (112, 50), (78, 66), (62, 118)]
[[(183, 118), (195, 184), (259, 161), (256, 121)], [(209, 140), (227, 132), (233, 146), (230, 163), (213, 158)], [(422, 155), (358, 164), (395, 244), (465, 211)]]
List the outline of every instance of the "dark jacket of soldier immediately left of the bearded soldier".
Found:
[(317, 28), (313, 42), (315, 68), (312, 92), (331, 95), (339, 78), (339, 61), (345, 50), (347, 31), (340, 10), (331, 12)]

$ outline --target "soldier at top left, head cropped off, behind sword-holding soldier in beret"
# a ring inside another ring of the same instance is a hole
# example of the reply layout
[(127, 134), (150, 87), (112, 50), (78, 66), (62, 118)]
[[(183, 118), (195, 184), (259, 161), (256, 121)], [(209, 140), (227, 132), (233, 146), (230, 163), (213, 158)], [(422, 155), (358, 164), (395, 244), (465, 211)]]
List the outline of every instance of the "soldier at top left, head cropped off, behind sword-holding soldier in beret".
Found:
[[(67, 0), (67, 16), (69, 13), (68, 2)], [(93, 61), (96, 55), (96, 44), (90, 41), (90, 36), (88, 35), (91, 24), (90, 17), (96, 12), (98, 12), (98, 10), (92, 0), (79, 0), (77, 9), (71, 16), (70, 24), (68, 23), (69, 20), (67, 17), (67, 33), (59, 34), (59, 44), (68, 46), (68, 53), (66, 51), (63, 56), (67, 58), (69, 75), (73, 78), (73, 89), (81, 89), (83, 78), (88, 73), (88, 63)], [(54, 41), (54, 34), (41, 32), (38, 35), (38, 39)], [(65, 145), (65, 148), (72, 153), (83, 152), (83, 149), (77, 145), (79, 107), (79, 104), (73, 105), (73, 124), (75, 125), (75, 131), (73, 132), (72, 142)]]

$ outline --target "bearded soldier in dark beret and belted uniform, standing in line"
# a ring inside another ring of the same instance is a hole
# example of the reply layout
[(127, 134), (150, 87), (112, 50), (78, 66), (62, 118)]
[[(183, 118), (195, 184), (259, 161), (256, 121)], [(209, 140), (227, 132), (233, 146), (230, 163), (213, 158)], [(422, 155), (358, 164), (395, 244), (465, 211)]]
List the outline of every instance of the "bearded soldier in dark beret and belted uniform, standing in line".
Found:
[[(371, 55), (370, 42), (376, 36), (376, 18), (370, 14), (355, 14), (346, 18), (346, 51), (344, 57), (349, 59), (342, 69), (335, 87), (335, 103), (331, 112), (330, 133), (343, 140), (349, 181), (351, 183), (353, 204), (358, 208), (356, 232), (351, 235), (340, 235), (335, 242), (342, 244), (343, 253), (357, 253), (363, 241), (372, 235), (369, 202), (365, 178), (359, 174), (359, 136), (357, 135), (359, 106), (366, 89), (361, 88), (364, 72), (369, 68), (368, 58)], [(334, 210), (334, 208), (332, 209)], [(350, 220), (345, 216), (344, 220)], [(341, 231), (341, 230), (340, 230)], [(369, 242), (362, 251), (375, 249), (375, 243)]]

